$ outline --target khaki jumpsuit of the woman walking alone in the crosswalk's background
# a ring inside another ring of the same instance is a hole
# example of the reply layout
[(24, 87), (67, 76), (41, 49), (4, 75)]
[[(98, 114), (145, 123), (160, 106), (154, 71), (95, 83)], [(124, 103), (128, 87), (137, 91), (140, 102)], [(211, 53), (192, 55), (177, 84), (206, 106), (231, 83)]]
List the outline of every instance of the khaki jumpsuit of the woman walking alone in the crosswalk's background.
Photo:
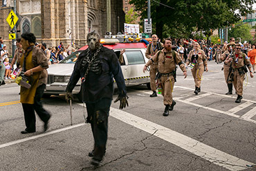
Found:
[[(194, 50), (190, 51), (189, 55), (188, 55), (188, 61), (187, 61), (187, 65), (192, 63), (191, 58), (193, 55)], [(207, 60), (206, 60), (206, 56), (203, 50), (199, 49), (198, 51), (198, 59), (196, 60), (196, 64), (194, 65), (194, 68), (191, 69), (193, 78), (194, 78), (194, 83), (196, 87), (201, 87), (201, 80), (202, 80), (202, 75), (203, 75), (203, 71), (204, 71), (204, 66), (207, 66)]]

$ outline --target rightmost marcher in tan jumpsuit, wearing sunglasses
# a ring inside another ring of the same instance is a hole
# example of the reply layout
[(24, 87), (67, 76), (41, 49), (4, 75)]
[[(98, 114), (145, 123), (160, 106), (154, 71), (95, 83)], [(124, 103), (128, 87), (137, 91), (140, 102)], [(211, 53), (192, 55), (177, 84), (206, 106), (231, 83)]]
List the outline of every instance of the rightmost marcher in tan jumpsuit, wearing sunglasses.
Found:
[(243, 83), (246, 66), (250, 71), (250, 78), (253, 78), (250, 60), (245, 53), (241, 52), (241, 45), (236, 44), (234, 57), (229, 57), (225, 62), (232, 62), (232, 71), (229, 74), (228, 82), (233, 82), (235, 91), (237, 92), (237, 100), (235, 100), (235, 102), (239, 103), (243, 98)]

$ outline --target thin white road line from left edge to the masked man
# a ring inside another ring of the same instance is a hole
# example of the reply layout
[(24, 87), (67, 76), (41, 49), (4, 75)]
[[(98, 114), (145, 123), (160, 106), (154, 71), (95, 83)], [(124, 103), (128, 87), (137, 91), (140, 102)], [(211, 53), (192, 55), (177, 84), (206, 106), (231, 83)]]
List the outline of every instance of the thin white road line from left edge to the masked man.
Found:
[(53, 132), (47, 132), (47, 133), (44, 133), (44, 134), (39, 134), (39, 135), (36, 135), (36, 136), (30, 136), (30, 137), (27, 137), (27, 138), (19, 139), (17, 141), (12, 141), (12, 142), (9, 142), (9, 143), (1, 144), (0, 145), (0, 149), (3, 148), (3, 147), (8, 147), (10, 145), (24, 143), (26, 141), (34, 140), (34, 139), (41, 138), (41, 137), (44, 137), (44, 136), (49, 136), (51, 134), (56, 134), (56, 133), (59, 133), (59, 132), (64, 132), (64, 131), (66, 131), (68, 129), (73, 129), (75, 127), (80, 127), (82, 125), (85, 125), (85, 123), (80, 123), (80, 124), (77, 124), (77, 125), (73, 125), (71, 127), (64, 127), (62, 129), (57, 129), (57, 130), (55, 130)]

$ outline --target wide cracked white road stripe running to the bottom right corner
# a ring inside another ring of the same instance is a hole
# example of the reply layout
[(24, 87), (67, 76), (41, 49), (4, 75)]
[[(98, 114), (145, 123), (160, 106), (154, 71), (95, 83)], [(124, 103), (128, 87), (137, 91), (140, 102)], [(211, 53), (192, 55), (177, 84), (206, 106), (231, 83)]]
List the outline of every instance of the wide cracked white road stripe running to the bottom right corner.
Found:
[(196, 156), (199, 156), (216, 165), (220, 165), (228, 170), (244, 170), (247, 168), (246, 165), (254, 165), (254, 163), (250, 163), (249, 161), (244, 161), (243, 159), (239, 159), (236, 156), (221, 152), (214, 147), (205, 145), (188, 136), (180, 134), (179, 132), (175, 132), (172, 129), (163, 127), (156, 123), (152, 123), (149, 120), (134, 116), (125, 111), (111, 108), (110, 116), (117, 118), (118, 120), (122, 120), (122, 122), (137, 127), (138, 129), (141, 129), (145, 132), (148, 132), (149, 134), (153, 134), (158, 138), (181, 147), (183, 150), (187, 150)]

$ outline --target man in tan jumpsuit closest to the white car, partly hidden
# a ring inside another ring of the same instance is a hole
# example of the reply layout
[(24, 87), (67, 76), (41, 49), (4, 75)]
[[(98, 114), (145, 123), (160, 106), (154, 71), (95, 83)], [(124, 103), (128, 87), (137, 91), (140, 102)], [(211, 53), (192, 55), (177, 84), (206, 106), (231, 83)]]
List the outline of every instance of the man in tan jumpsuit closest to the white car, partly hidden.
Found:
[[(145, 53), (147, 59), (152, 58), (156, 53), (161, 50), (159, 48), (163, 47), (163, 44), (161, 42), (158, 42), (157, 35), (152, 35), (152, 43), (147, 46), (147, 51)], [(156, 72), (157, 72), (157, 64), (153, 63), (150, 66), (149, 76), (150, 76), (150, 88), (153, 91), (152, 95), (150, 95), (151, 98), (156, 97)]]

